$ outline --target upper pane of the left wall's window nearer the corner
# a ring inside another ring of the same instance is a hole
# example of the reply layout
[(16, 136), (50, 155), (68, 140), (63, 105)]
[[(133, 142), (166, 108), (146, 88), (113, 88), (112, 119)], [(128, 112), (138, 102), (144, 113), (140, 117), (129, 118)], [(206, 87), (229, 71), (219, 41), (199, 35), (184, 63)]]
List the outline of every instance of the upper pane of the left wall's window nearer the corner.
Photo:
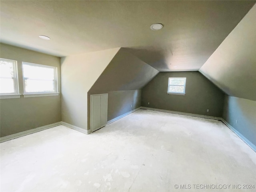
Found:
[(54, 80), (54, 68), (23, 64), (24, 78), (37, 80)]

